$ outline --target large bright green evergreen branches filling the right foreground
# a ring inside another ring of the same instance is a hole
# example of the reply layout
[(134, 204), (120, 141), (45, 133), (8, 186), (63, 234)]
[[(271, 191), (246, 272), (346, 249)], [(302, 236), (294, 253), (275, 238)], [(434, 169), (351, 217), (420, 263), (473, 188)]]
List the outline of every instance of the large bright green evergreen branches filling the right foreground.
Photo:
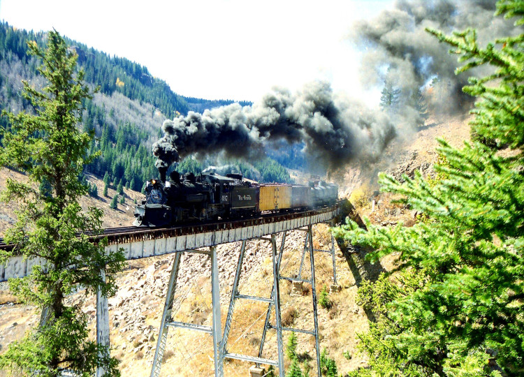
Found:
[[(497, 3), (497, 15), (524, 23), (522, 2)], [(518, 376), (524, 368), (524, 34), (485, 48), (468, 29), (453, 36), (429, 30), (453, 46), (465, 65), (490, 64), (494, 73), (470, 78), (464, 91), (479, 97), (472, 130), (497, 140), (461, 149), (439, 140), (441, 179), (420, 174), (405, 183), (381, 175), (382, 191), (423, 214), (410, 228), (356, 223), (335, 230), (372, 246), (371, 260), (398, 253), (400, 273), (364, 290), (381, 312), (361, 350), (370, 369), (355, 376)], [(363, 295), (359, 292), (359, 295)]]

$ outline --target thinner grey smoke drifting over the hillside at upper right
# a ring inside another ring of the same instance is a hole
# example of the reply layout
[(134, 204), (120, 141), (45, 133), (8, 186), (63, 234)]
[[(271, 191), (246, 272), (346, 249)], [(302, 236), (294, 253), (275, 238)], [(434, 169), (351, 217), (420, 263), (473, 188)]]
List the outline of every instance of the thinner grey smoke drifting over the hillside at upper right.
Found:
[(449, 45), (438, 43), (426, 28), (446, 34), (476, 29), (480, 45), (522, 32), (513, 21), (493, 17), (495, 0), (399, 0), (391, 10), (384, 10), (372, 20), (356, 22), (351, 40), (365, 48), (361, 79), (367, 85), (391, 82), (409, 98), (433, 77), (438, 83), (428, 96), (434, 110), (462, 112), (469, 110), (472, 98), (463, 93), (470, 71), (455, 75), (457, 55), (449, 54)]

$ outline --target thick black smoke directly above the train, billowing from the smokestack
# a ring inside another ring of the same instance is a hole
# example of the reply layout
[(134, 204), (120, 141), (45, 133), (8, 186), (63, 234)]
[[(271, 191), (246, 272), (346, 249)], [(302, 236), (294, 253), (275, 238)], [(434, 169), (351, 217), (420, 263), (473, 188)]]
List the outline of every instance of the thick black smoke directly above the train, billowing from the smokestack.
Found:
[(162, 129), (163, 138), (153, 145), (159, 169), (191, 154), (256, 158), (270, 140), (304, 142), (308, 156), (333, 169), (377, 158), (395, 135), (386, 114), (333, 94), (326, 82), (307, 84), (294, 95), (274, 89), (252, 106), (189, 112), (164, 121)]

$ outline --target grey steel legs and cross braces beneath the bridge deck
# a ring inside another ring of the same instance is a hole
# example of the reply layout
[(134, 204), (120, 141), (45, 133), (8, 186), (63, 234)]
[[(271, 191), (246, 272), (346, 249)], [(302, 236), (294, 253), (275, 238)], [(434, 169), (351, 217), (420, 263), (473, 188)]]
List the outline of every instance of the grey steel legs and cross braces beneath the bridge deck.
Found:
[[(301, 258), (300, 268), (302, 269), (303, 263), (305, 260), (305, 254), (307, 253), (310, 258), (310, 268), (311, 268), (311, 278), (310, 279), (297, 279), (289, 278), (288, 276), (280, 275), (280, 268), (282, 264), (282, 258), (285, 250), (285, 242), (287, 232), (282, 232), (282, 242), (277, 246), (276, 235), (270, 235), (270, 237), (258, 237), (266, 242), (270, 243), (271, 246), (271, 255), (272, 255), (272, 270), (273, 270), (273, 281), (272, 288), (270, 290), (270, 297), (258, 297), (253, 295), (243, 295), (240, 293), (240, 277), (242, 274), (242, 265), (245, 260), (245, 251), (247, 240), (243, 240), (240, 245), (240, 252), (238, 255), (238, 263), (236, 265), (235, 276), (233, 278), (233, 286), (231, 287), (231, 298), (229, 300), (228, 312), (226, 316), (226, 321), (224, 324), (224, 332), (221, 332), (220, 327), (220, 305), (219, 305), (219, 282), (218, 282), (218, 272), (217, 267), (213, 267), (213, 260), (216, 259), (216, 248), (210, 248), (209, 252), (206, 252), (210, 255), (212, 259), (212, 327), (206, 327), (202, 325), (194, 325), (190, 323), (180, 323), (173, 321), (173, 318), (170, 318), (170, 311), (173, 309), (173, 295), (175, 294), (176, 289), (176, 277), (173, 277), (169, 281), (168, 286), (168, 295), (166, 297), (166, 306), (164, 308), (163, 317), (161, 320), (161, 327), (159, 330), (159, 340), (157, 344), (157, 350), (154, 356), (154, 362), (152, 367), (151, 376), (159, 376), (159, 371), (162, 362), (163, 350), (166, 348), (166, 337), (168, 327), (182, 327), (187, 330), (207, 332), (213, 337), (213, 350), (214, 350), (214, 375), (215, 376), (224, 376), (224, 359), (230, 358), (235, 360), (242, 360), (246, 362), (253, 362), (257, 367), (260, 367), (261, 364), (272, 365), (278, 367), (279, 377), (284, 377), (284, 343), (282, 332), (297, 332), (302, 334), (309, 334), (315, 339), (315, 351), (316, 351), (316, 365), (317, 365), (317, 375), (320, 376), (320, 345), (319, 345), (319, 325), (318, 325), (318, 313), (316, 305), (316, 285), (315, 285), (315, 275), (314, 275), (314, 252), (323, 251), (318, 249), (313, 249), (312, 242), (312, 226), (307, 226), (306, 228), (301, 228), (300, 230), (305, 231), (305, 240), (304, 240), (304, 249), (303, 256)], [(333, 244), (332, 244), (333, 248)], [(201, 252), (202, 251), (198, 251)], [(334, 250), (327, 251), (330, 252), (334, 258)], [(180, 264), (180, 254), (178, 261), (175, 258), (173, 262), (173, 269), (171, 270), (171, 275), (177, 274), (177, 268)], [(333, 271), (333, 281), (335, 279), (335, 270)], [(301, 274), (301, 272), (300, 272)], [(313, 319), (314, 319), (314, 328), (313, 329), (299, 329), (292, 327), (284, 327), (281, 322), (281, 313), (280, 313), (280, 290), (279, 290), (279, 281), (291, 280), (291, 281), (303, 281), (310, 283), (312, 286), (312, 302), (313, 302)], [(241, 355), (238, 353), (228, 352), (228, 339), (231, 333), (231, 327), (233, 323), (233, 312), (235, 309), (235, 302), (237, 300), (254, 300), (257, 302), (265, 302), (268, 304), (268, 309), (265, 313), (265, 323), (263, 325), (261, 343), (259, 346), (258, 356), (252, 355)], [(275, 323), (270, 323), (271, 314), (274, 313)], [(265, 344), (265, 337), (268, 330), (276, 331), (276, 340), (277, 340), (277, 355), (276, 359), (268, 358), (263, 355), (263, 348)]]

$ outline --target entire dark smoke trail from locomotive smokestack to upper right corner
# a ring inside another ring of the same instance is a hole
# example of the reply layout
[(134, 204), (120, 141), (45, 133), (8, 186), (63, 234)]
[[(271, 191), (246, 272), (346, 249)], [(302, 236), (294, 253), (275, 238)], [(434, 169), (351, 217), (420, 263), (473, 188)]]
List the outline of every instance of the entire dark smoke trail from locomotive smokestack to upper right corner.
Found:
[(428, 96), (434, 109), (469, 108), (472, 99), (462, 92), (467, 75), (455, 75), (457, 57), (425, 28), (450, 34), (474, 27), (481, 45), (522, 32), (511, 20), (493, 17), (494, 12), (494, 0), (400, 0), (376, 19), (354, 24), (352, 40), (367, 49), (361, 78), (368, 87), (388, 81), (400, 88), (398, 114), (335, 95), (326, 82), (307, 84), (297, 94), (275, 89), (253, 106), (233, 104), (165, 121), (164, 136), (153, 145), (157, 168), (165, 177), (172, 163), (191, 154), (261, 156), (271, 140), (305, 143), (305, 153), (330, 170), (356, 160), (372, 161), (394, 138), (394, 124), (420, 121), (413, 98), (432, 78), (439, 79), (435, 93)]

